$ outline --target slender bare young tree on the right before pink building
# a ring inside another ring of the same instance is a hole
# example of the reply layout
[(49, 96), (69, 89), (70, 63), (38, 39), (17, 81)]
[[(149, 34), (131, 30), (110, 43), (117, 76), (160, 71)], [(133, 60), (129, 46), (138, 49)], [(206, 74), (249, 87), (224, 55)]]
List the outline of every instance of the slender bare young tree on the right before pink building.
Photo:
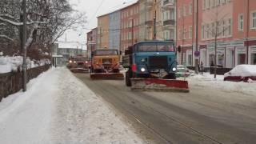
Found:
[[(231, 31), (231, 25), (226, 26), (226, 18), (228, 14), (223, 14), (223, 9), (219, 8), (220, 6), (216, 6), (214, 8), (214, 13), (209, 15), (209, 18), (211, 20), (211, 23), (207, 23), (203, 29), (203, 33), (206, 32), (206, 37), (211, 37), (214, 39), (214, 78), (216, 78), (217, 75), (217, 42), (218, 38), (221, 36), (225, 36), (226, 30)], [(231, 20), (230, 20), (231, 21)], [(205, 23), (205, 22), (204, 22)]]

